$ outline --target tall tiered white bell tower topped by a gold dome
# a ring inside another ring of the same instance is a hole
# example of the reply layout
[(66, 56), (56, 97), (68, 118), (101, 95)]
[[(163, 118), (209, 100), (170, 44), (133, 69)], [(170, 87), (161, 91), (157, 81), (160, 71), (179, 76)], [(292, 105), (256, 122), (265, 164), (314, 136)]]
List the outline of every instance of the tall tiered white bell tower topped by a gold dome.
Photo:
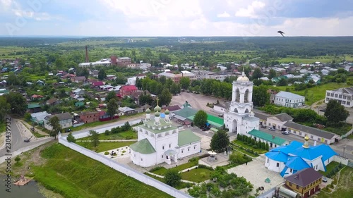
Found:
[(247, 135), (253, 129), (258, 130), (260, 119), (254, 116), (252, 99), (253, 82), (243, 71), (241, 77), (233, 82), (232, 101), (225, 113), (225, 127), (229, 132)]

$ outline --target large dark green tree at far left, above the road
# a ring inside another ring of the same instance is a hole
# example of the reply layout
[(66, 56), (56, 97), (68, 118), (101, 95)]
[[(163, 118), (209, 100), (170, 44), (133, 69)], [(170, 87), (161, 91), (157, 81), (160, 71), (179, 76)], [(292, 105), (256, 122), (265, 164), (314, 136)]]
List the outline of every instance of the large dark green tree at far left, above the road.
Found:
[(28, 107), (25, 102), (25, 98), (18, 92), (10, 92), (5, 95), (6, 101), (10, 104), (12, 113), (16, 113), (18, 116), (23, 116)]

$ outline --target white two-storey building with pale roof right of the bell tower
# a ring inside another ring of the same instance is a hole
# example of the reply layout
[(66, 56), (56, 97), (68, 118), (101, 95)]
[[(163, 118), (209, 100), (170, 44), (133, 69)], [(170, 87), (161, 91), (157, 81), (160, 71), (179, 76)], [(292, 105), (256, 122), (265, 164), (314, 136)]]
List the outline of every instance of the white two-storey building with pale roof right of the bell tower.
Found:
[(280, 91), (275, 95), (274, 103), (280, 106), (296, 108), (304, 105), (305, 97), (291, 92)]

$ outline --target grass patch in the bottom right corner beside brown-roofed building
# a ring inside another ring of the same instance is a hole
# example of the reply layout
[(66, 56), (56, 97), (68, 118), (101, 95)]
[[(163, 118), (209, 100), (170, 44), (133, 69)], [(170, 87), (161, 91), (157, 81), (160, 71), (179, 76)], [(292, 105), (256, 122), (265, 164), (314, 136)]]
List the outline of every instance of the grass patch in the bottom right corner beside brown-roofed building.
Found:
[(340, 173), (340, 179), (338, 180), (337, 187), (335, 192), (328, 194), (321, 191), (316, 197), (318, 198), (331, 198), (331, 197), (340, 197), (340, 198), (350, 198), (353, 194), (353, 168), (346, 166), (342, 169)]

